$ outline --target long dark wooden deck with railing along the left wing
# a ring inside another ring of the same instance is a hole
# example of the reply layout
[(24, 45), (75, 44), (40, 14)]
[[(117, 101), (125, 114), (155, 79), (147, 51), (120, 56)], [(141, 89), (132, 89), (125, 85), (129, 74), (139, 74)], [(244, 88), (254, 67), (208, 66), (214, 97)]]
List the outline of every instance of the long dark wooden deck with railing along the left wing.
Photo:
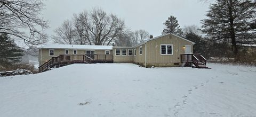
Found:
[(52, 57), (39, 66), (38, 72), (49, 70), (52, 67), (61, 67), (70, 64), (113, 63), (113, 55), (59, 55)]

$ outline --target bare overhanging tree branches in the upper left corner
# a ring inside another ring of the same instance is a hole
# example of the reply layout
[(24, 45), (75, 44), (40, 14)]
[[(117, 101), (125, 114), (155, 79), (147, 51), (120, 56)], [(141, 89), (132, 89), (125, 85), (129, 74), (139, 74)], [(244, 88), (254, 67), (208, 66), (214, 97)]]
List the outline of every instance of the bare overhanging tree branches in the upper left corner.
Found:
[(27, 44), (47, 41), (44, 30), (49, 27), (48, 21), (39, 17), (43, 6), (42, 0), (0, 0), (0, 33), (23, 39)]

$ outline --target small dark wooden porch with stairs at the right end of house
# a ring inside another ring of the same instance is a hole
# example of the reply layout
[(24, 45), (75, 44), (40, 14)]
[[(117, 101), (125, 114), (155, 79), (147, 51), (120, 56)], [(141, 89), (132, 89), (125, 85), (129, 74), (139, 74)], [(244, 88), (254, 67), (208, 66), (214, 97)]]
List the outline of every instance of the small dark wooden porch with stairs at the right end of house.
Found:
[[(185, 62), (185, 66), (203, 68), (203, 69), (211, 69), (206, 66), (206, 59), (200, 54), (182, 54), (181, 62)], [(194, 65), (194, 66), (193, 66)]]

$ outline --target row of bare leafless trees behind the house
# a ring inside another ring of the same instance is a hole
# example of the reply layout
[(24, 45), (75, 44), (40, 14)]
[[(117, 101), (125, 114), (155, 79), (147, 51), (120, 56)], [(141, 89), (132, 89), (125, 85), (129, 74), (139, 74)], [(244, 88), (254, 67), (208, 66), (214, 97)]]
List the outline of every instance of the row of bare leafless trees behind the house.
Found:
[(64, 21), (54, 32), (52, 39), (60, 44), (134, 46), (149, 37), (146, 30), (131, 31), (123, 19), (101, 8), (74, 14), (72, 20)]

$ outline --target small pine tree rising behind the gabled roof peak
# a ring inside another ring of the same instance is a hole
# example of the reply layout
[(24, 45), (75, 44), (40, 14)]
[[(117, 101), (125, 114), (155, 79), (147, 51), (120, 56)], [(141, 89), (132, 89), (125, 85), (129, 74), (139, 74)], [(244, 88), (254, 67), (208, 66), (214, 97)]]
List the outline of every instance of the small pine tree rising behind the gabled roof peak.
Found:
[(183, 33), (182, 29), (179, 26), (179, 22), (177, 18), (172, 15), (168, 17), (168, 20), (165, 21), (164, 25), (165, 25), (165, 28), (162, 34), (173, 33), (177, 35), (182, 35)]

